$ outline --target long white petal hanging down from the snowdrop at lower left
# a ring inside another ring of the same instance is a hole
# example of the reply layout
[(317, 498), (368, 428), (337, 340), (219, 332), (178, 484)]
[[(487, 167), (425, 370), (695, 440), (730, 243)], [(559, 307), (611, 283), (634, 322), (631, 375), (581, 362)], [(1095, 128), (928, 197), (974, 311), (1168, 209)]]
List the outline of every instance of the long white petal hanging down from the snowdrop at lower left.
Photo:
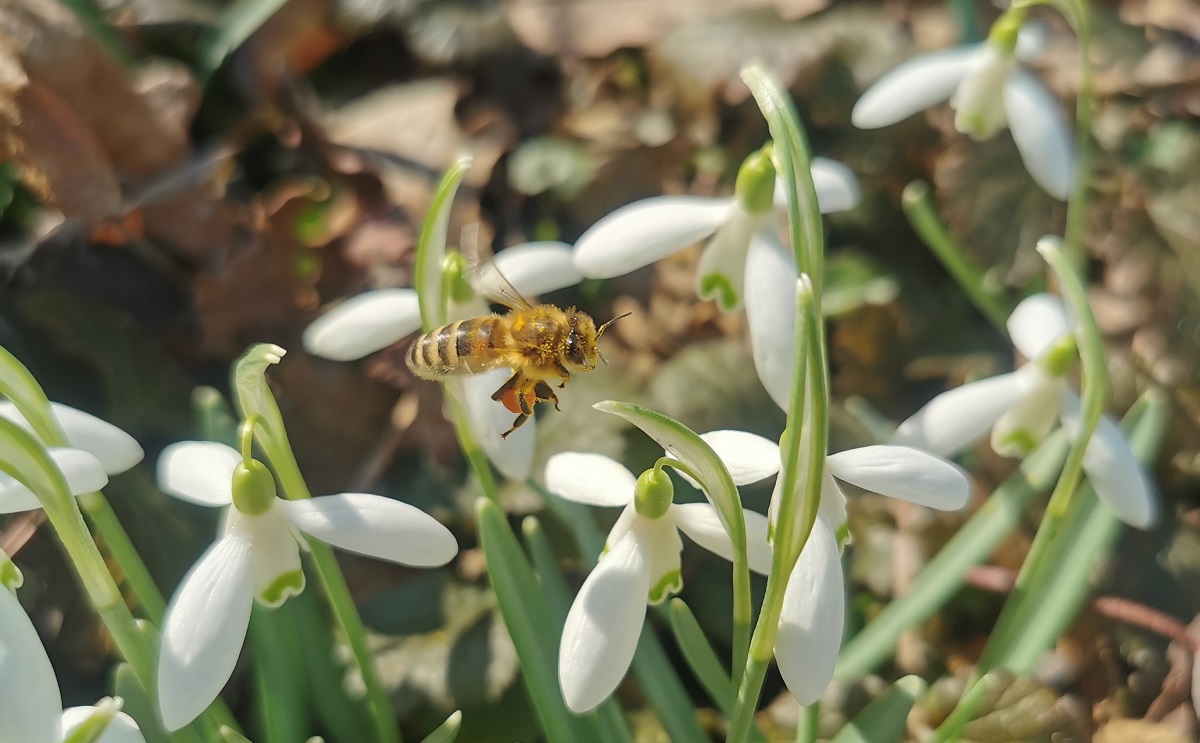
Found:
[(158, 658), (158, 706), (179, 730), (217, 697), (238, 663), (253, 604), (251, 546), (238, 534), (214, 544), (167, 607)]

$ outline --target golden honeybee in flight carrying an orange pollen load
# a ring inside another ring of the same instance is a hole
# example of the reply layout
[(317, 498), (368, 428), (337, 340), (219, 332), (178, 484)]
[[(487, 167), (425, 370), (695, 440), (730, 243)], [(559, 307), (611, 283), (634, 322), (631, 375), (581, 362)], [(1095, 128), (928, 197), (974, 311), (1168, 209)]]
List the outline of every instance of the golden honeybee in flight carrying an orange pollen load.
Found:
[[(472, 284), (490, 301), (508, 307), (505, 314), (486, 314), (457, 320), (416, 337), (404, 356), (408, 368), (421, 379), (478, 375), (493, 368), (512, 370), (492, 400), (516, 414), (506, 438), (533, 415), (539, 402), (558, 407), (551, 389), (566, 387), (572, 373), (592, 371), (608, 362), (596, 341), (618, 316), (599, 328), (587, 312), (554, 305), (532, 304), (491, 262), (472, 268)], [(628, 313), (626, 313), (628, 314)]]

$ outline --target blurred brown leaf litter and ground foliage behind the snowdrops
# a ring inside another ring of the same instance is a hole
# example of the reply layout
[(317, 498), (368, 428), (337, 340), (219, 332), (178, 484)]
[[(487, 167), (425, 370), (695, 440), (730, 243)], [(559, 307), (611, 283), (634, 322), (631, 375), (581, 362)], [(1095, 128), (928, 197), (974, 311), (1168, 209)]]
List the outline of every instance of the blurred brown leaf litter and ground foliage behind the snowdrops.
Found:
[[(1157, 472), (1168, 517), (1124, 538), (1096, 575), (1099, 598), (1037, 677), (1013, 679), (972, 723), (968, 737), (980, 742), (1165, 742), (1196, 731), (1200, 8), (1093, 6), (1091, 300), (1109, 342), (1111, 407), (1160, 387), (1177, 409)], [(1013, 361), (910, 229), (905, 185), (932, 184), (952, 234), (1014, 298), (1042, 287), (1034, 241), (1062, 229), (1063, 204), (1033, 185), (1009, 138), (960, 137), (946, 107), (882, 131), (850, 125), (857, 96), (892, 65), (978, 38), (998, 12), (984, 0), (628, 0), (619, 10), (610, 0), (8, 0), (0, 344), (52, 399), (146, 447), (146, 462), (113, 481), (110, 499), (168, 592), (215, 523), (155, 490), (155, 454), (199, 435), (193, 388), (227, 390), (229, 362), (248, 343), (288, 348), (271, 382), (313, 492), (403, 498), (448, 522), (466, 547), (436, 573), (342, 557), (406, 733), (462, 708), (460, 739), (533, 739), (437, 385), (410, 377), (403, 344), (338, 364), (306, 355), (301, 330), (326, 302), (410, 286), (437, 175), (463, 150), (475, 158), (451, 242), (468, 226), (497, 248), (571, 241), (641, 197), (728, 193), (742, 158), (767, 137), (737, 77), (762, 59), (794, 95), (814, 151), (846, 162), (862, 182), (862, 204), (827, 220), (836, 301), (826, 308), (834, 448), (874, 442), (937, 391)], [(1054, 14), (1039, 20), (1049, 46), (1037, 68), (1068, 107), (1074, 37)], [(750, 371), (744, 319), (695, 299), (696, 258), (684, 252), (547, 298), (601, 318), (634, 316), (606, 336), (611, 368), (574, 381), (564, 411), (542, 418), (542, 457), (583, 449), (635, 471), (653, 462), (648, 439), (593, 414), (602, 399), (641, 402), (697, 431), (778, 437), (782, 414)], [(986, 447), (966, 463), (980, 496), (1014, 465)], [(744, 495), (763, 510), (769, 489)], [(544, 507), (524, 484), (504, 496), (514, 519)], [(542, 517), (564, 573), (580, 581), (563, 525)], [(902, 592), (962, 519), (858, 498), (851, 622)], [(889, 681), (950, 675), (910, 717), (913, 736), (953, 707), (955, 678), (977, 658), (1037, 519), (995, 556), (998, 582), (979, 571), (882, 671)], [(65, 697), (90, 701), (112, 648), (40, 525), (37, 515), (0, 521), (0, 546), (26, 570), (23, 599), (53, 640)], [(726, 643), (728, 568), (702, 551), (685, 556), (683, 598)], [(235, 676), (235, 709), (247, 688)], [(822, 730), (881, 688), (877, 677), (835, 684)], [(620, 699), (636, 708), (636, 684)], [(778, 677), (764, 705), (766, 725), (790, 736), (796, 707)], [(636, 715), (638, 739), (661, 737), (655, 725)]]

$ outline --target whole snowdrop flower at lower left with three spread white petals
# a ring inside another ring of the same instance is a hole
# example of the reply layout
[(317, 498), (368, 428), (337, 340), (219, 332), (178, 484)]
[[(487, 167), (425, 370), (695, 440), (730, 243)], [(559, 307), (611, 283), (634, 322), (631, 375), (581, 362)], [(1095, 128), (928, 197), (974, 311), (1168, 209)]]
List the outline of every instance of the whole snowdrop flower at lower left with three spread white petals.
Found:
[(158, 484), (199, 505), (233, 505), (222, 537), (184, 577), (167, 609), (158, 703), (168, 730), (196, 719), (229, 679), (252, 603), (274, 607), (304, 591), (301, 532), (406, 565), (443, 565), (458, 551), (444, 526), (406, 503), (365, 493), (278, 498), (263, 465), (223, 444), (168, 447), (158, 460)]

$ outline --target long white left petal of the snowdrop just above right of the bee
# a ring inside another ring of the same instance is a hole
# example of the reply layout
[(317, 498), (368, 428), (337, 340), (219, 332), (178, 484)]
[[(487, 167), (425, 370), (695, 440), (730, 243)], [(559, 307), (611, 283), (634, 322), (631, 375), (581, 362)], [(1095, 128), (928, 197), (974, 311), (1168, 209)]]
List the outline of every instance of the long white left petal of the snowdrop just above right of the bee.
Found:
[(656, 196), (604, 217), (575, 244), (575, 265), (589, 278), (612, 278), (698, 242), (736, 209), (732, 198)]

